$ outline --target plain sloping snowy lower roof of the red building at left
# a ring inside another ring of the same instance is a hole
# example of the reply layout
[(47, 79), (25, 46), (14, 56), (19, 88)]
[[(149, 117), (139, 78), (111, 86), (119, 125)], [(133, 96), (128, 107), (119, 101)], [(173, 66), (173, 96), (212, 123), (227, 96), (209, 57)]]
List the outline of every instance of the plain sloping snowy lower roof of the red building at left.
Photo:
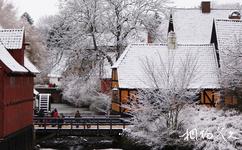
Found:
[(0, 60), (13, 72), (28, 72), (21, 66), (8, 52), (8, 50), (0, 43)]

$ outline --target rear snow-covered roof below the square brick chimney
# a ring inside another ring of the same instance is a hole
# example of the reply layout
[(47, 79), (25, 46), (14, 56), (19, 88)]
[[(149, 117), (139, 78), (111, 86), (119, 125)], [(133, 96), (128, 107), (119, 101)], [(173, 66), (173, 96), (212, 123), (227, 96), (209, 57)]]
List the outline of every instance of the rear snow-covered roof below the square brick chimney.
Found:
[(201, 9), (175, 8), (172, 11), (174, 30), (178, 43), (210, 43), (214, 18), (228, 19), (236, 10), (211, 9), (202, 13)]

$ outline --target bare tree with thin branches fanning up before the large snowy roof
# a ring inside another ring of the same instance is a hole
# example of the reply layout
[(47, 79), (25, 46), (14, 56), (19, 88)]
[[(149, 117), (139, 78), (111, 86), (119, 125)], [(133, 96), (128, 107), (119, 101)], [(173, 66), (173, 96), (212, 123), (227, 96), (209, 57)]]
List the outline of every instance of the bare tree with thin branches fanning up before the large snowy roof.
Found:
[(177, 64), (174, 55), (173, 52), (169, 53), (168, 60), (159, 57), (158, 66), (151, 59), (144, 61), (144, 71), (151, 89), (142, 89), (139, 93), (142, 103), (150, 104), (157, 114), (165, 117), (167, 128), (176, 130), (179, 112), (197, 92), (197, 89), (190, 89), (189, 86), (196, 79), (198, 64), (197, 56), (189, 53)]

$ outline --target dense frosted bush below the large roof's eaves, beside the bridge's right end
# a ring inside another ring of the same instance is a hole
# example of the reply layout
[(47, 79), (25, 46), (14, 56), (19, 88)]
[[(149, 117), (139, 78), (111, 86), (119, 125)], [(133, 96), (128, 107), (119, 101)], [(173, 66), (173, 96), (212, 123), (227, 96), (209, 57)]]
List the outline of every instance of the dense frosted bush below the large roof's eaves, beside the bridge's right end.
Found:
[(180, 115), (186, 103), (192, 103), (194, 98), (196, 92), (186, 89), (140, 91), (141, 104), (132, 112), (133, 125), (127, 130), (128, 135), (154, 149), (166, 145), (190, 146), (179, 138), (184, 131)]

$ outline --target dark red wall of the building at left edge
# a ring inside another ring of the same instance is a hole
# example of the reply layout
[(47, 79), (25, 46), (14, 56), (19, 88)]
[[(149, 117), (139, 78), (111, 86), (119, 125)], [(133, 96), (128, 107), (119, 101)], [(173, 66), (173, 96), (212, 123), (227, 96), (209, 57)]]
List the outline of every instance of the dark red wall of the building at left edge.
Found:
[(33, 76), (3, 73), (1, 77), (0, 138), (31, 125), (33, 115)]

